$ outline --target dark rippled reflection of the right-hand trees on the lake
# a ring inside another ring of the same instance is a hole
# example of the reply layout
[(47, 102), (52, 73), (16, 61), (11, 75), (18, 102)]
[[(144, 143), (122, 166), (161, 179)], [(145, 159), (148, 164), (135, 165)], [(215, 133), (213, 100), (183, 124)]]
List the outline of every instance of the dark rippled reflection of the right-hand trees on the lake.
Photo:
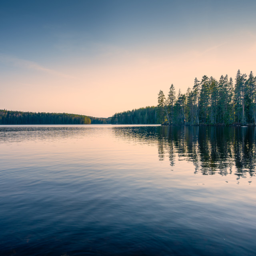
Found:
[(187, 160), (203, 175), (255, 176), (256, 128), (210, 126), (116, 127), (116, 136), (136, 143), (156, 144), (158, 157), (170, 165)]

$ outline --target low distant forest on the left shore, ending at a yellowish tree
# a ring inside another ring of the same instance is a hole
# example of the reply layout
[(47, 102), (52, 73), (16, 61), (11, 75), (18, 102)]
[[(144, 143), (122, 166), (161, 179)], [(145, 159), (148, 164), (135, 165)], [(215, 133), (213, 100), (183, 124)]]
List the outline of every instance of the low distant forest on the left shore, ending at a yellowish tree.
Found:
[(88, 116), (0, 110), (0, 124), (91, 124)]

